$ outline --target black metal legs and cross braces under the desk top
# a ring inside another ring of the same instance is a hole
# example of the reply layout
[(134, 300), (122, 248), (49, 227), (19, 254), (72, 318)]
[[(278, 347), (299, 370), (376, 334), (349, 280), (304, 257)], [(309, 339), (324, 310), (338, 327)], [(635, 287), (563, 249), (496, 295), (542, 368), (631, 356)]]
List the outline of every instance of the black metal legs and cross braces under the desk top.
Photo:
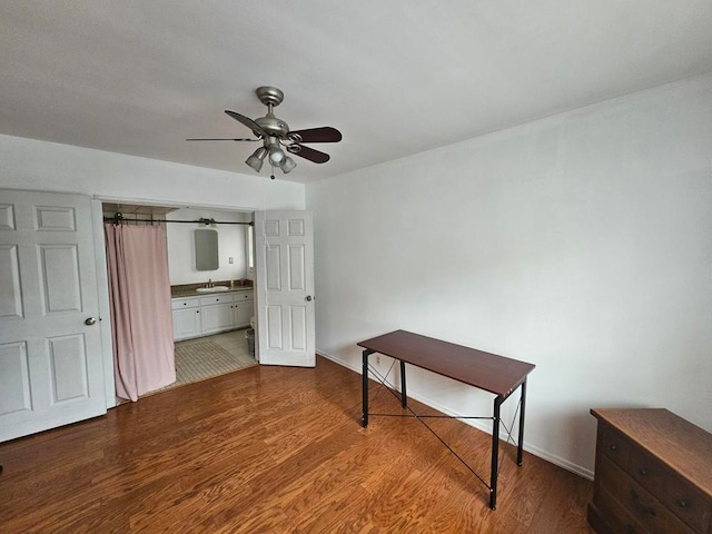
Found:
[[(386, 389), (388, 389), (392, 395), (394, 395), (396, 398), (398, 398), (398, 395), (395, 392), (395, 386), (388, 382), (388, 375), (390, 374), (390, 370), (393, 369), (393, 366), (395, 364), (395, 359), (393, 362), (393, 364), (390, 365), (390, 367), (388, 368), (388, 370), (386, 372), (385, 375), (380, 375), (380, 373), (378, 373), (373, 366), (369, 365), (368, 363), (368, 356), (370, 354), (373, 354), (375, 350), (370, 350), (370, 349), (365, 349), (363, 353), (363, 414), (362, 414), (362, 423), (363, 423), (363, 427), (366, 428), (368, 426), (368, 416), (369, 415), (374, 415), (374, 416), (382, 416), (382, 417), (411, 417), (411, 418), (416, 418), (418, 422), (421, 422), (423, 424), (423, 426), (425, 426), (431, 434), (433, 434), (466, 468), (467, 471), (469, 471), (473, 475), (475, 475), (475, 477), (482, 482), (485, 487), (487, 487), (487, 490), (490, 490), (490, 507), (492, 510), (496, 508), (496, 502), (497, 502), (497, 475), (500, 473), (500, 425), (502, 425), (504, 427), (504, 429), (507, 433), (507, 443), (512, 443), (512, 431), (514, 429), (514, 422), (516, 421), (516, 416), (518, 413), (520, 416), (520, 436), (518, 436), (518, 444), (517, 444), (517, 455), (516, 455), (516, 463), (518, 466), (522, 465), (522, 456), (523, 456), (523, 439), (524, 439), (524, 407), (525, 407), (525, 399), (526, 399), (526, 379), (524, 379), (524, 382), (521, 384), (521, 394), (520, 394), (520, 402), (517, 404), (517, 407), (514, 412), (514, 418), (512, 421), (512, 425), (511, 427), (507, 427), (507, 425), (505, 423), (502, 422), (501, 419), (501, 407), (502, 407), (502, 403), (504, 403), (504, 400), (506, 400), (512, 393), (514, 393), (514, 390), (516, 390), (516, 388), (514, 388), (512, 392), (510, 392), (510, 394), (507, 396), (502, 396), (502, 395), (497, 395), (494, 399), (494, 415), (492, 417), (490, 416), (448, 416), (448, 415), (418, 415), (416, 414), (413, 408), (411, 408), (408, 406), (408, 398), (406, 395), (406, 387), (405, 387), (405, 362), (399, 360), (400, 363), (400, 403), (402, 406), (407, 409), (411, 414), (378, 414), (378, 413), (369, 413), (368, 412), (368, 374), (370, 372), (370, 374), (373, 374), (380, 383), (380, 385), (385, 386)], [(389, 387), (392, 386), (392, 387)], [(488, 419), (493, 422), (492, 425), (492, 465), (491, 465), (491, 477), (490, 477), (490, 484), (487, 484), (487, 482), (479, 475), (477, 474), (468, 464), (467, 462), (465, 462), (439, 435), (437, 435), (437, 433), (431, 428), (431, 426), (428, 426), (428, 424), (424, 421), (426, 418), (449, 418), (449, 419)]]

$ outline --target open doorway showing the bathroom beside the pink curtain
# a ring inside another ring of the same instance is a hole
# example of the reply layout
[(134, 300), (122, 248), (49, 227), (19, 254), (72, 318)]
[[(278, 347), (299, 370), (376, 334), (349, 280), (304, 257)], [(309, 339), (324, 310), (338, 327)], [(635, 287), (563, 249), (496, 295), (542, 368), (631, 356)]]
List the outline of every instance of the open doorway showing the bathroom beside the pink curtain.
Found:
[[(102, 211), (108, 221), (118, 219), (117, 214), (120, 214), (122, 224), (160, 225), (166, 236), (175, 326), (176, 382), (147, 395), (257, 364), (246, 336), (254, 316), (253, 245), (251, 231), (247, 230), (251, 229), (248, 225), (251, 212), (116, 202), (103, 202)], [(199, 270), (195, 246), (198, 229), (210, 229), (219, 236), (217, 265), (209, 270)], [(229, 290), (199, 293), (207, 286), (226, 287)], [(238, 294), (244, 301), (236, 301)], [(212, 295), (218, 297), (208, 298)], [(225, 303), (209, 306), (212, 300)], [(186, 308), (181, 309), (181, 305)]]

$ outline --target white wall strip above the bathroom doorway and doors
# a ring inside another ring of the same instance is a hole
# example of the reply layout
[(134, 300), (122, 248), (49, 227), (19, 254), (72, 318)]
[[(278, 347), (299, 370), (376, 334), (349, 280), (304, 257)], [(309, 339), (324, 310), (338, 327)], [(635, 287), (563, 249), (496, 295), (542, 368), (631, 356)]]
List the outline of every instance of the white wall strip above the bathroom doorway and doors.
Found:
[(301, 184), (2, 135), (0, 187), (80, 192), (130, 204), (304, 209)]

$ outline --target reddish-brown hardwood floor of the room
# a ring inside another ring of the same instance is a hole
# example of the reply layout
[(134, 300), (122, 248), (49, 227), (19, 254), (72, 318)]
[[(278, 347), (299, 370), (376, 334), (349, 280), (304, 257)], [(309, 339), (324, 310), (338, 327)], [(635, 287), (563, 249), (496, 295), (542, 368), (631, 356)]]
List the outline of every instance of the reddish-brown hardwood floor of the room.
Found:
[[(592, 532), (590, 481), (526, 453), (517, 467), (505, 446), (491, 511), (485, 486), (416, 421), (359, 419), (360, 376), (324, 358), (141, 398), (0, 444), (0, 532)], [(488, 435), (433, 421), (488, 473)]]

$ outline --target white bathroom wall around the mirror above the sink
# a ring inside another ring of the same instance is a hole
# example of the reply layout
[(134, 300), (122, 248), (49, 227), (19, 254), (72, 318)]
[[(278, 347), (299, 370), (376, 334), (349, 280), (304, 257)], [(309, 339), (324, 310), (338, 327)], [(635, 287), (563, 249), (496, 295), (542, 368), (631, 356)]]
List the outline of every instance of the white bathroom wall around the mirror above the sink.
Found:
[[(198, 220), (201, 218), (219, 221), (248, 222), (251, 214), (221, 211), (205, 208), (182, 208), (166, 216), (168, 220)], [(195, 230), (212, 229), (218, 233), (218, 269), (196, 270)], [(238, 280), (247, 278), (246, 227), (243, 225), (205, 225), (167, 224), (168, 269), (170, 284), (198, 284), (208, 279)], [(233, 264), (229, 259), (233, 258)]]

